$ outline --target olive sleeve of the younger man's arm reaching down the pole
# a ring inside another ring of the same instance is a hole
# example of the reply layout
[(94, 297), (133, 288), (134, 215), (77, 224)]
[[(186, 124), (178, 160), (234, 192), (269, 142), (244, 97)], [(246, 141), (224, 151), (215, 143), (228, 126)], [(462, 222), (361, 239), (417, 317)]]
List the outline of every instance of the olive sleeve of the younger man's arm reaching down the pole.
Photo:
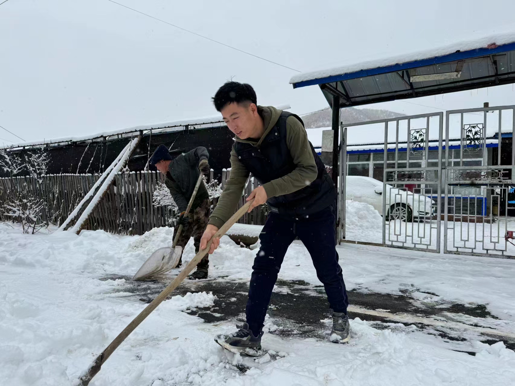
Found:
[(239, 200), (243, 195), (245, 182), (249, 177), (249, 171), (238, 160), (234, 148), (231, 151), (231, 175), (226, 181), (224, 191), (218, 198), (216, 208), (213, 210), (209, 223), (215, 225), (218, 229), (225, 224), (227, 220), (234, 214)]

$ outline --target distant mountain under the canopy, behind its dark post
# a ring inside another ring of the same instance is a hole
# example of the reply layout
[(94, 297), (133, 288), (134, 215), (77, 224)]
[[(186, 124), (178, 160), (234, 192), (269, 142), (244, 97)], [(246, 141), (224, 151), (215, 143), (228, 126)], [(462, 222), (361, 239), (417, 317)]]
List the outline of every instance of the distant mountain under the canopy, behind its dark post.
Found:
[[(330, 127), (331, 126), (331, 109), (317, 111), (311, 114), (301, 116), (306, 128), (315, 129), (317, 127)], [(356, 109), (353, 107), (346, 107), (341, 109), (340, 121), (344, 124), (354, 124), (356, 122), (364, 122), (367, 120), (387, 119), (403, 117), (405, 114), (396, 113), (389, 110), (377, 109)]]

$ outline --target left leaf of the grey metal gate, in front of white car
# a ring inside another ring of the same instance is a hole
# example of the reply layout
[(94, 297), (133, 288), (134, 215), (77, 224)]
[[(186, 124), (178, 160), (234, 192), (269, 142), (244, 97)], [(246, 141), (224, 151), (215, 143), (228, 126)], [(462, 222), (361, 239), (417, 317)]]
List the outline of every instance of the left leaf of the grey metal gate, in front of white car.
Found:
[[(373, 173), (370, 174), (375, 179), (347, 178), (348, 134), (366, 131), (371, 126), (375, 126), (375, 137), (381, 145), (384, 139), (382, 150), (371, 153), (372, 161), (379, 161), (370, 164), (373, 165)], [(381, 127), (384, 135), (379, 136), (377, 130)], [(438, 160), (443, 155), (443, 113), (342, 125), (340, 131), (340, 241), (439, 253), (442, 178)], [(382, 183), (377, 181), (379, 179)], [(371, 242), (367, 236), (365, 240), (347, 237), (351, 230), (346, 227), (346, 200), (350, 200), (349, 205), (354, 204), (351, 201), (367, 203), (369, 200), (368, 203), (382, 215), (381, 238), (376, 234), (375, 242)]]

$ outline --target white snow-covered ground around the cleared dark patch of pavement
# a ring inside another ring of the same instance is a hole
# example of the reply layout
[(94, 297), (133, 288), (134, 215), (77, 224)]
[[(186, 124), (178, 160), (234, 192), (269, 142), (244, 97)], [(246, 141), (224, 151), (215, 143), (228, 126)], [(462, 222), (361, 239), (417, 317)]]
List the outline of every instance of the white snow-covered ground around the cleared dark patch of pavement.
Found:
[[(124, 279), (100, 278), (134, 274), (151, 252), (171, 243), (172, 236), (168, 228), (143, 236), (102, 231), (24, 235), (17, 227), (0, 223), (0, 384), (75, 384), (96, 355), (145, 307), (116, 291), (124, 287)], [(515, 332), (515, 261), (355, 244), (340, 245), (338, 253), (349, 290), (401, 294), (408, 288), (419, 302), (484, 304), (499, 319), (476, 318), (475, 323)], [(193, 255), (189, 243), (184, 260)], [(254, 255), (225, 236), (210, 258), (210, 274), (245, 282)], [(288, 249), (280, 278), (320, 284), (300, 242)], [(183, 312), (209, 307), (214, 300), (213, 294), (200, 292), (163, 302), (90, 384), (504, 386), (515, 382), (515, 353), (502, 342), (462, 343), (476, 353), (471, 356), (453, 351), (449, 342), (415, 326), (384, 324), (381, 330), (374, 327), (376, 323), (357, 318), (351, 321), (353, 338), (346, 345), (265, 334), (268, 355), (258, 361), (235, 356), (213, 341), (215, 334), (233, 329), (234, 321), (209, 324)], [(249, 370), (238, 370), (242, 364)]]

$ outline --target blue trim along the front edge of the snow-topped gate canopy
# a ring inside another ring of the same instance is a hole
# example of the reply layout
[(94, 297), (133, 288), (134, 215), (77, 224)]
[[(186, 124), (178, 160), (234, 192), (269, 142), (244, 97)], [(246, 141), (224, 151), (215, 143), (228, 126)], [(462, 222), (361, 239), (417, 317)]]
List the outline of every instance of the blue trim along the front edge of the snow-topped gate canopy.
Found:
[(402, 71), (402, 70), (406, 70), (409, 68), (424, 67), (424, 66), (429, 66), (432, 64), (454, 62), (456, 60), (472, 59), (472, 58), (477, 58), (477, 57), (481, 57), (481, 56), (499, 54), (501, 52), (506, 52), (506, 51), (511, 51), (511, 50), (515, 50), (515, 42), (504, 44), (504, 45), (501, 45), (496, 48), (476, 48), (476, 49), (472, 49), (469, 51), (453, 52), (452, 54), (437, 56), (437, 57), (430, 58), (430, 59), (415, 60), (412, 62), (397, 63), (397, 64), (385, 66), (385, 67), (363, 69), (361, 71), (356, 71), (353, 73), (333, 75), (333, 76), (329, 76), (329, 77), (325, 77), (325, 78), (304, 80), (301, 82), (294, 83), (293, 88), (297, 89), (297, 87), (311, 86), (314, 84), (324, 84), (324, 83), (337, 82), (340, 80), (364, 78), (364, 77), (371, 76), (371, 75), (392, 73), (395, 71)]

